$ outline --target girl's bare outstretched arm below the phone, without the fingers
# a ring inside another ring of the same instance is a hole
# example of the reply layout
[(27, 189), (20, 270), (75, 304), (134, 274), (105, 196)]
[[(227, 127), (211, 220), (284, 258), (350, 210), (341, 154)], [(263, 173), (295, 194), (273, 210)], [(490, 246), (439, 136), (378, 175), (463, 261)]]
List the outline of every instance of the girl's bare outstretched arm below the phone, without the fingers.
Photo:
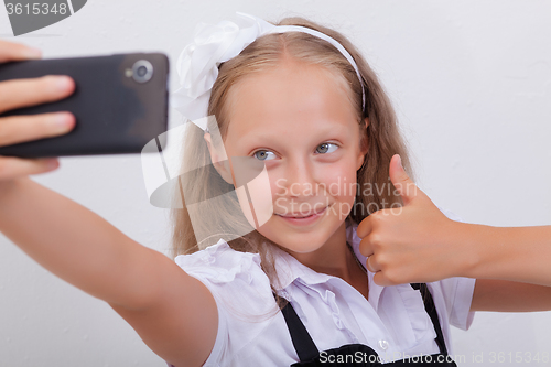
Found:
[(108, 302), (163, 359), (176, 367), (206, 360), (216, 303), (164, 255), (29, 177), (0, 181), (0, 231), (57, 277)]

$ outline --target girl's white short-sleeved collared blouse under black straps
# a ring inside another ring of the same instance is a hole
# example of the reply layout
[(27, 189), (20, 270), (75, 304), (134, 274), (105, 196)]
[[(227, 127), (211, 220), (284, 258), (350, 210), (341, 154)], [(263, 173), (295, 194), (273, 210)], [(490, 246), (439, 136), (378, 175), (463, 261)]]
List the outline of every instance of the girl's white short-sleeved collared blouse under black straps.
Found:
[[(347, 226), (346, 235), (365, 263), (356, 228)], [(278, 293), (291, 301), (320, 352), (360, 343), (377, 352), (383, 363), (440, 353), (421, 293), (410, 284), (380, 287), (368, 271), (366, 300), (343, 279), (317, 273), (282, 250), (276, 253), (282, 285)], [(258, 253), (235, 251), (220, 239), (175, 261), (210, 290), (218, 307), (216, 342), (204, 366), (281, 367), (299, 361)], [(450, 324), (467, 330), (473, 322), (474, 285), (475, 279), (469, 278), (428, 283), (449, 355), (453, 356)]]

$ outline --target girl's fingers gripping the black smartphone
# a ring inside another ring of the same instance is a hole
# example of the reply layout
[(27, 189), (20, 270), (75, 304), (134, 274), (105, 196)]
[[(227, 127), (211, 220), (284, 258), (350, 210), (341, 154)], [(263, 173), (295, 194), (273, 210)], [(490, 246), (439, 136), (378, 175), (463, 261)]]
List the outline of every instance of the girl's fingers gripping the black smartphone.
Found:
[[(40, 50), (0, 40), (0, 63), (40, 57)], [(0, 82), (0, 115), (11, 109), (68, 97), (74, 89), (75, 84), (68, 76), (48, 75), (32, 79)], [(71, 131), (74, 126), (75, 117), (71, 112), (2, 117), (0, 118), (0, 147), (60, 136)], [(55, 170), (58, 164), (56, 158), (0, 156), (0, 182), (48, 172)]]

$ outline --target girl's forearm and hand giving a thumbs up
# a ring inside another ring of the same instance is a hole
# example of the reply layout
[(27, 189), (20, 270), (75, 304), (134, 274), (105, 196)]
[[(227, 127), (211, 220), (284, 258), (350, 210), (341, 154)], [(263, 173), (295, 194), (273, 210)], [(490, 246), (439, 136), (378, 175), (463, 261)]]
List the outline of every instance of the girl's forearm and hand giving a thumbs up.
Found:
[(467, 277), (551, 285), (551, 226), (498, 228), (454, 222), (411, 182), (398, 155), (389, 174), (403, 207), (378, 211), (357, 228), (360, 251), (378, 284)]

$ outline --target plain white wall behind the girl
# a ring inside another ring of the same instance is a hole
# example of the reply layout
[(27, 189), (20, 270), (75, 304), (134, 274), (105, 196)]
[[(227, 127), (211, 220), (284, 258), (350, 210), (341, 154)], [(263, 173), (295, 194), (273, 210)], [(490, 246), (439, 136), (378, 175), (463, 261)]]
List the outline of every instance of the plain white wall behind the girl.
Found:
[[(268, 20), (301, 14), (349, 35), (395, 101), (419, 184), (439, 205), (473, 223), (551, 224), (551, 2), (89, 0), (17, 39), (0, 10), (0, 36), (41, 47), (44, 57), (162, 51), (174, 63), (198, 21), (236, 10)], [(175, 87), (175, 74), (171, 80)], [(171, 114), (174, 123), (180, 116)], [(139, 154), (62, 158), (57, 171), (33, 179), (166, 253), (168, 212), (148, 204)], [(466, 358), (460, 365), (489, 365), (491, 353), (503, 354), (499, 366), (514, 365), (517, 352), (541, 357), (551, 350), (550, 324), (549, 312), (478, 313), (468, 332), (453, 328)], [(480, 354), (484, 363), (473, 361)], [(165, 366), (106, 303), (1, 235), (0, 364)]]

